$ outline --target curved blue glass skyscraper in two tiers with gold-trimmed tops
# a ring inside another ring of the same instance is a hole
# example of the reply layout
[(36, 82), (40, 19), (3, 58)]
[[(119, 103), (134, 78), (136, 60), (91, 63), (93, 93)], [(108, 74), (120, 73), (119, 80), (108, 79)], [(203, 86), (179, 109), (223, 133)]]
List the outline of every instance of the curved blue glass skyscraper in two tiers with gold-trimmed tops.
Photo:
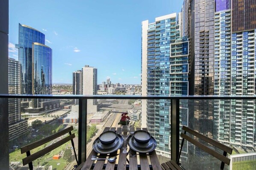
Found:
[[(45, 35), (19, 24), (16, 48), (21, 63), (21, 94), (52, 94), (52, 49), (45, 45)], [(42, 108), (42, 101), (47, 99), (32, 99), (30, 106)]]

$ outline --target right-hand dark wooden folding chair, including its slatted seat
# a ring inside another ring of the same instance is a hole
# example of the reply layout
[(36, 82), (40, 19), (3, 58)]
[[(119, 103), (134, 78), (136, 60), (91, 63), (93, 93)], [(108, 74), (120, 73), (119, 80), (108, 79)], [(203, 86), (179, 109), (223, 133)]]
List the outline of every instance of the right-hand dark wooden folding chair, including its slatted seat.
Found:
[[(227, 158), (226, 155), (227, 155), (227, 153), (229, 153), (229, 154), (232, 153), (231, 147), (221, 144), (218, 141), (214, 141), (213, 139), (208, 138), (207, 136), (202, 135), (188, 127), (183, 126), (182, 130), (184, 130), (185, 132), (181, 133), (182, 144), (181, 144), (181, 148), (179, 151), (179, 157), (176, 162), (171, 160), (171, 161), (167, 161), (167, 162), (161, 164), (164, 170), (183, 170), (177, 163), (178, 163), (179, 158), (182, 153), (182, 147), (184, 144), (184, 140), (191, 142), (192, 144), (196, 145), (196, 147), (199, 147), (200, 149), (204, 150), (205, 152), (207, 152), (207, 153), (211, 154), (212, 156), (214, 156), (215, 158), (219, 159), (221, 161), (221, 165), (220, 165), (221, 170), (223, 170), (225, 164), (229, 165), (230, 159)], [(200, 143), (199, 141), (189, 137), (188, 135), (186, 135), (187, 132), (190, 133), (191, 135), (199, 138), (200, 140), (205, 141), (208, 144), (211, 144), (212, 146), (219, 148), (220, 150), (223, 150), (223, 155), (221, 155), (220, 153), (217, 153), (214, 149), (205, 146), (204, 144)]]

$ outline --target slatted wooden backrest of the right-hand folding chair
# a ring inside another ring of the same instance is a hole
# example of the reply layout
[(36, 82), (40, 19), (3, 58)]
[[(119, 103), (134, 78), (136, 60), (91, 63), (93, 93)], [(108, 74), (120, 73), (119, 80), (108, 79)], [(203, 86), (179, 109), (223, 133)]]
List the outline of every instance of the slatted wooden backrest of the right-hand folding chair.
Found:
[[(228, 147), (228, 146), (226, 146), (224, 144), (221, 144), (218, 141), (215, 141), (215, 140), (213, 140), (211, 138), (208, 138), (207, 136), (202, 135), (202, 134), (200, 134), (200, 133), (198, 133), (198, 132), (196, 132), (196, 131), (188, 128), (188, 127), (183, 126), (182, 130), (185, 131), (184, 133), (181, 133), (181, 137), (183, 138), (182, 139), (182, 145), (183, 145), (184, 139), (185, 139), (185, 140), (191, 142), (192, 144), (194, 144), (195, 146), (199, 147), (200, 149), (204, 150), (205, 152), (211, 154), (215, 158), (219, 159), (221, 161), (221, 165), (220, 165), (220, 169), (221, 170), (223, 170), (225, 164), (229, 165), (230, 159), (227, 158), (226, 155), (227, 155), (227, 153), (229, 153), (229, 154), (232, 153), (233, 149), (231, 147)], [(212, 148), (205, 146), (204, 144), (200, 143), (196, 139), (189, 137), (188, 135), (186, 135), (187, 132), (190, 133), (191, 135), (193, 135), (193, 136), (195, 136), (195, 137), (197, 137), (197, 138), (207, 142), (208, 144), (211, 144), (214, 147), (217, 147), (220, 150), (223, 150), (223, 155), (221, 155), (220, 153), (216, 152)], [(181, 147), (181, 150), (182, 150), (182, 147)], [(179, 157), (181, 155), (181, 150), (180, 150), (180, 153), (179, 153)]]

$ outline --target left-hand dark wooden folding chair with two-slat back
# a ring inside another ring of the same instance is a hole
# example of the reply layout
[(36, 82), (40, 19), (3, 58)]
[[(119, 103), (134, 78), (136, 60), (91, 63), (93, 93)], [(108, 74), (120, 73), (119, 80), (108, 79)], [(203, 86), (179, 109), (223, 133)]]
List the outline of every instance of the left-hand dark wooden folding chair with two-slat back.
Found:
[[(43, 138), (39, 141), (36, 141), (32, 144), (28, 144), (24, 147), (21, 147), (21, 154), (22, 153), (27, 153), (27, 157), (26, 158), (23, 158), (22, 161), (23, 161), (23, 165), (26, 165), (28, 164), (29, 165), (29, 168), (30, 170), (33, 170), (33, 164), (32, 164), (32, 161), (36, 160), (37, 158), (40, 158), (41, 156), (44, 156), (46, 153), (49, 153), (51, 152), (52, 150), (56, 149), (57, 147), (60, 147), (62, 144), (65, 144), (66, 142), (68, 141), (71, 141), (71, 144), (72, 144), (72, 147), (73, 147), (73, 150), (74, 150), (74, 156), (75, 156), (75, 159), (77, 161), (77, 155), (76, 155), (76, 152), (75, 152), (75, 149), (74, 149), (74, 141), (73, 141), (73, 138), (75, 137), (74, 133), (71, 134), (71, 131), (73, 130), (73, 126), (71, 127), (68, 127), (58, 133), (55, 133), (53, 135), (50, 135), (46, 138)], [(36, 153), (33, 153), (32, 155), (30, 155), (30, 150), (33, 150), (35, 149), (36, 147), (39, 147), (39, 146), (42, 146), (43, 144), (49, 142), (49, 141), (52, 141), (62, 135), (65, 135), (66, 133), (69, 133), (68, 136), (66, 136), (65, 138), (55, 142), (54, 144), (51, 144), (50, 146), (48, 147), (45, 147), (44, 149), (42, 150), (39, 150), (38, 152)], [(78, 164), (78, 161), (77, 161), (77, 164)]]

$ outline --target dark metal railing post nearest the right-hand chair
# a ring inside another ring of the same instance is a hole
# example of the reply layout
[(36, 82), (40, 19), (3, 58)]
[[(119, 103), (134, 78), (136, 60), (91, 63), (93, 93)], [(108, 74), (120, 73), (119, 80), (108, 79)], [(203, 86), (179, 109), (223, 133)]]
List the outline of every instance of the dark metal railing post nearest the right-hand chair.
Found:
[(171, 100), (171, 159), (179, 162), (179, 99)]

